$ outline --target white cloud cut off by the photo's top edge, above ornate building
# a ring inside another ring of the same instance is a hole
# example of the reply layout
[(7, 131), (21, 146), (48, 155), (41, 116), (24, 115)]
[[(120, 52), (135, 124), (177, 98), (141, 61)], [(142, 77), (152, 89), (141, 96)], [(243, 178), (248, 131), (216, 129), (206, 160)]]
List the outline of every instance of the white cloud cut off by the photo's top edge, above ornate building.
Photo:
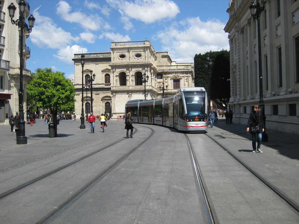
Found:
[(176, 3), (170, 0), (106, 0), (110, 7), (117, 9), (123, 16), (153, 23), (160, 19), (174, 18), (180, 12)]

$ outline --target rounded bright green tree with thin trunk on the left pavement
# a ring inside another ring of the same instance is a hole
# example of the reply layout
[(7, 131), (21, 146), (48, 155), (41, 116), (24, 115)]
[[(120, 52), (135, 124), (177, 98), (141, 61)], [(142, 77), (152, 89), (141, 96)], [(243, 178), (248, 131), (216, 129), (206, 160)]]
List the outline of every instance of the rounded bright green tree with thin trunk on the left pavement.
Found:
[(36, 106), (50, 109), (57, 137), (59, 109), (65, 104), (75, 102), (75, 88), (71, 81), (65, 78), (64, 73), (45, 68), (28, 83), (27, 94), (36, 100)]

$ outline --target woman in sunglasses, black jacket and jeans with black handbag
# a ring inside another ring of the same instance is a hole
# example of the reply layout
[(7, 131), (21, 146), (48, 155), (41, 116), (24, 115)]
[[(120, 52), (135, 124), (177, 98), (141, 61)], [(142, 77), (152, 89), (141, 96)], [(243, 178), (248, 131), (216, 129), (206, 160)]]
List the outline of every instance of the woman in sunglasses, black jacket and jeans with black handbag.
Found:
[[(257, 133), (253, 133), (251, 130), (251, 127), (258, 126), (259, 130)], [(260, 110), (259, 105), (254, 106), (254, 112), (250, 113), (249, 119), (247, 122), (247, 129), (246, 131), (251, 134), (251, 140), (252, 140), (252, 152), (259, 152), (263, 153), (261, 151), (261, 143), (262, 143), (262, 137), (263, 137), (263, 132), (265, 131), (265, 124), (264, 124), (264, 119), (263, 115)], [(257, 148), (256, 147), (256, 136), (257, 136)]]

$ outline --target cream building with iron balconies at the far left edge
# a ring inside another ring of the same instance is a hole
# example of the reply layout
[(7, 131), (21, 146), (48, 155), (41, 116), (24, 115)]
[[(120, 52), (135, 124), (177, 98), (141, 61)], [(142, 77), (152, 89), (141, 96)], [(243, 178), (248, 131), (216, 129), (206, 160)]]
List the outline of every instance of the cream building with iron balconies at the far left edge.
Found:
[[(23, 34), (23, 46), (19, 46), (20, 29), (10, 22), (7, 7), (10, 3), (16, 6), (14, 20), (19, 19), (19, 1), (0, 0), (0, 125), (8, 125), (10, 115), (19, 112), (20, 89), (20, 49), (23, 51), (23, 90), (30, 81), (30, 70), (26, 69), (27, 59), (30, 58), (30, 48), (26, 45), (29, 33)], [(26, 2), (24, 17), (28, 18), (30, 6)], [(28, 21), (27, 21), (28, 23)], [(24, 114), (26, 118), (26, 91), (23, 91)]]

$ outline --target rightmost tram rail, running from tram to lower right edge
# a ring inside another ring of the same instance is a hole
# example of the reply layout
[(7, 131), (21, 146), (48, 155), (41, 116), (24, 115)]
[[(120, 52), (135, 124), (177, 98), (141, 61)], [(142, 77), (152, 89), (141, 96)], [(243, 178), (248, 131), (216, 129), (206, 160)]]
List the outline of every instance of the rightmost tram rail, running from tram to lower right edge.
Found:
[(242, 159), (237, 157), (235, 154), (233, 154), (228, 148), (226, 148), (224, 145), (222, 145), (220, 142), (218, 142), (213, 137), (209, 136), (205, 133), (206, 136), (208, 136), (211, 140), (213, 140), (217, 145), (219, 145), (222, 149), (224, 149), (228, 154), (230, 154), (234, 159), (236, 159), (240, 164), (242, 164), (246, 169), (248, 169), (254, 176), (256, 176), (258, 179), (260, 179), (265, 185), (267, 185), (275, 194), (277, 194), (281, 199), (283, 199), (287, 204), (289, 204), (295, 211), (299, 213), (299, 205), (296, 203), (292, 198), (290, 198), (288, 195), (286, 195), (284, 192), (282, 192), (279, 188), (277, 188), (275, 185), (273, 185), (271, 182), (269, 182), (267, 179), (265, 179), (262, 175), (260, 175), (258, 172), (256, 172), (254, 169), (252, 169), (250, 166), (248, 166)]

